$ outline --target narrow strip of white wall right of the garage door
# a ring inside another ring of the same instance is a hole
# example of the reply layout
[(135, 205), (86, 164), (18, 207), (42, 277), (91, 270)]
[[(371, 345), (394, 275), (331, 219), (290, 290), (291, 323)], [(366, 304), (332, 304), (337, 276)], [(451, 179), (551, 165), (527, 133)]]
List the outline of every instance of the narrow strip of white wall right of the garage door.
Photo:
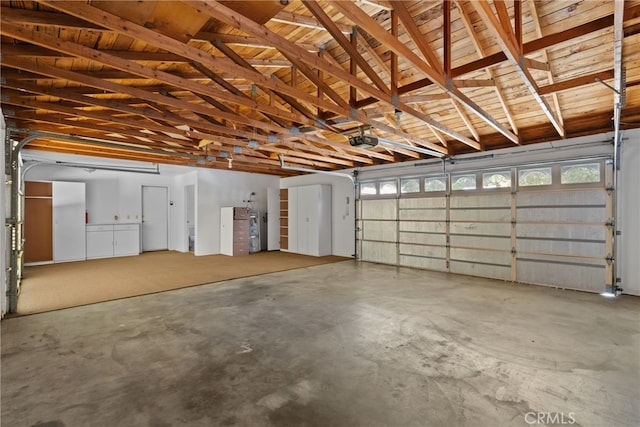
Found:
[(624, 293), (640, 295), (640, 129), (623, 132), (617, 195), (617, 274)]

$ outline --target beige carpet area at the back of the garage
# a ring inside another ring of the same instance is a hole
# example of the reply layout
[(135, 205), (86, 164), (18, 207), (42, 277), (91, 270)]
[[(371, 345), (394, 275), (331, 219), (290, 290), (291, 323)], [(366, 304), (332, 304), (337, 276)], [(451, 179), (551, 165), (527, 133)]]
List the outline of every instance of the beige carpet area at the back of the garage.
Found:
[(76, 307), (239, 277), (344, 261), (288, 252), (194, 256), (172, 251), (25, 267), (18, 314)]

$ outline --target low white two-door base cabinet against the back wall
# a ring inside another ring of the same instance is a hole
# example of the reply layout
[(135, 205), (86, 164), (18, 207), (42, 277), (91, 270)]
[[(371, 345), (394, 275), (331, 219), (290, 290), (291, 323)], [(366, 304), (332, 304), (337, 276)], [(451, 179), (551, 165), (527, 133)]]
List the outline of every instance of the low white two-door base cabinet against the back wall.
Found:
[(87, 259), (130, 256), (140, 253), (138, 224), (87, 225)]

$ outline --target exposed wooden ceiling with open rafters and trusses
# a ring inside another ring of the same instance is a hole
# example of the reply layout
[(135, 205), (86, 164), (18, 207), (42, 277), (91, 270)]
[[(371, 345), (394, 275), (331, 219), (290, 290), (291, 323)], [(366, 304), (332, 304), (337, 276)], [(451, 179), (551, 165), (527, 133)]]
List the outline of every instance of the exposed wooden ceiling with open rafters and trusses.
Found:
[(616, 79), (640, 127), (640, 0), (1, 5), (7, 125), (76, 137), (31, 149), (339, 170), (612, 131)]

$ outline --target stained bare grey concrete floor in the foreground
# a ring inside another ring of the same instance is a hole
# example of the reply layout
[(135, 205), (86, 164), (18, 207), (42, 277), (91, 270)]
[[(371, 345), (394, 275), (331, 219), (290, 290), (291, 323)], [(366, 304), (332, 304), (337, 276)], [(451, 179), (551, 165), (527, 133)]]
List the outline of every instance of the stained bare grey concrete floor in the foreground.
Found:
[(11, 318), (2, 425), (638, 426), (639, 308), (345, 261)]

